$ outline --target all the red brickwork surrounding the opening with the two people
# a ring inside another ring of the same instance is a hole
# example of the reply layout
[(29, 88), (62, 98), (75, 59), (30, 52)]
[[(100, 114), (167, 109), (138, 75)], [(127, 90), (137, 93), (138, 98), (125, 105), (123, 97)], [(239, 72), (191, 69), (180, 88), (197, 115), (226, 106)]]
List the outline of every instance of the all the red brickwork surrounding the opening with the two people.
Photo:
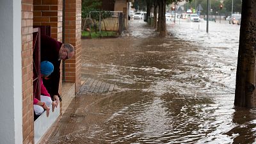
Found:
[[(76, 82), (77, 91), (81, 80), (81, 0), (66, 0), (66, 3), (65, 41), (76, 48), (75, 56), (65, 63), (66, 79)], [(52, 38), (62, 41), (62, 0), (22, 0), (22, 131), (24, 144), (34, 143), (33, 25), (51, 26)]]

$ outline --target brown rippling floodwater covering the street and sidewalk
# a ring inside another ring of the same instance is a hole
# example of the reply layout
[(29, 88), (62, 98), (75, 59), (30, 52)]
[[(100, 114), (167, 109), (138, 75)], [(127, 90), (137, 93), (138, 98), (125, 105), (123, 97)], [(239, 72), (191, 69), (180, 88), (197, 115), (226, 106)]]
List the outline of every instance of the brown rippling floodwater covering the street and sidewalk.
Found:
[(118, 89), (77, 95), (48, 143), (256, 143), (255, 109), (234, 108), (239, 26), (167, 23), (82, 41), (82, 78)]

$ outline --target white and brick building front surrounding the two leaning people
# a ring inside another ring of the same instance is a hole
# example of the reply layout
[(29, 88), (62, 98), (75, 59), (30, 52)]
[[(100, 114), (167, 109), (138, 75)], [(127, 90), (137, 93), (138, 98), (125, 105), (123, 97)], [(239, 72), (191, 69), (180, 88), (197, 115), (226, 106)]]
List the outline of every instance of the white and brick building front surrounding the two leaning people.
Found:
[[(127, 2), (122, 1), (126, 6)], [(60, 92), (63, 83), (74, 83), (75, 95), (81, 86), (81, 0), (1, 0), (0, 6), (1, 143), (38, 143), (42, 137), (35, 139), (34, 28), (51, 26), (52, 38), (74, 45), (75, 55), (62, 62), (61, 79), (65, 80), (60, 81)], [(63, 102), (57, 117), (63, 113)]]

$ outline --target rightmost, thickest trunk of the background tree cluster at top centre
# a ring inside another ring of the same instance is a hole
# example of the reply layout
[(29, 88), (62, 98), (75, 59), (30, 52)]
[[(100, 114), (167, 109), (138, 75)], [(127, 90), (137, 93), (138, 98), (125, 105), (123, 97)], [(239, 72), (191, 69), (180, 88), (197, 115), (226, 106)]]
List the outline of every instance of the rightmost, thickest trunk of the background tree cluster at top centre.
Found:
[(160, 18), (160, 21), (161, 21), (161, 24), (160, 24), (160, 29), (159, 29), (159, 36), (160, 37), (164, 37), (166, 36), (167, 34), (167, 31), (166, 31), (166, 18), (165, 18), (165, 11), (166, 11), (166, 0), (161, 0), (161, 18)]

